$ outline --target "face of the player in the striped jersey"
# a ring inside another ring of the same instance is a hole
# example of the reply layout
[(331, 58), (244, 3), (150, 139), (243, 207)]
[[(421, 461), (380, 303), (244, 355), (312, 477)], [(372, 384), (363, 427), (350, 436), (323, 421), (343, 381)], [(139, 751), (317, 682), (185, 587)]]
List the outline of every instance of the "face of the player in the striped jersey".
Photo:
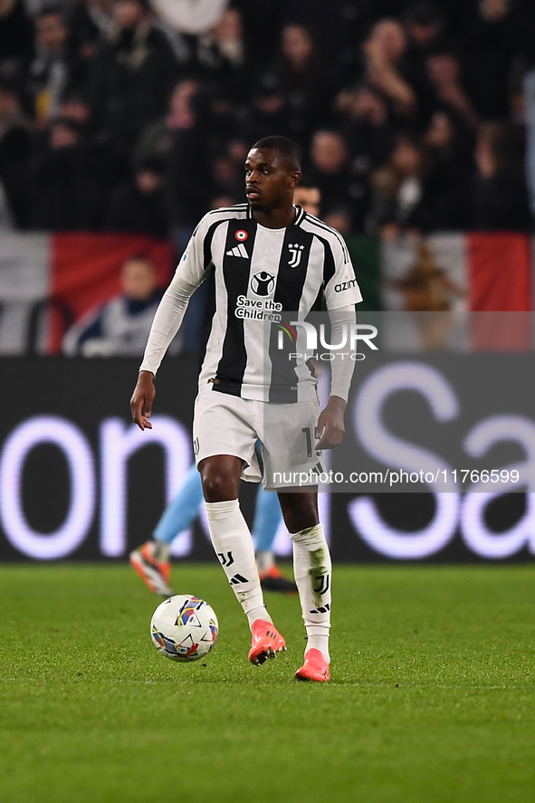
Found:
[(245, 195), (253, 209), (268, 211), (293, 196), (301, 173), (291, 170), (277, 150), (253, 148), (245, 159)]

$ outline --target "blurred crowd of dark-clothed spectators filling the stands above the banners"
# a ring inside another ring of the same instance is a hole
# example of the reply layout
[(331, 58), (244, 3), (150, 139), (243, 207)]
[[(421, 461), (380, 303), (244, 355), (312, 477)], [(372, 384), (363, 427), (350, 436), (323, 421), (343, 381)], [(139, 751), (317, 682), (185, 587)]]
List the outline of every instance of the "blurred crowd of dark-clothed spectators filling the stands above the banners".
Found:
[(344, 234), (530, 231), (535, 3), (0, 0), (3, 228), (180, 249), (273, 133)]

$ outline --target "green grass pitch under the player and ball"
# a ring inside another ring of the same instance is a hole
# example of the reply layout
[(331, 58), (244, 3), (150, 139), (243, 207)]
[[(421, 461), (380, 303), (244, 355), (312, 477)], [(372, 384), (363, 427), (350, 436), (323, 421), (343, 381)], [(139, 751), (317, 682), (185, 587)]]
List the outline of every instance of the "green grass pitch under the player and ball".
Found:
[(0, 567), (2, 801), (535, 800), (535, 566), (335, 567), (331, 684), (293, 680), (296, 597), (256, 668), (221, 569), (173, 580), (219, 617), (205, 663), (158, 655), (126, 566)]

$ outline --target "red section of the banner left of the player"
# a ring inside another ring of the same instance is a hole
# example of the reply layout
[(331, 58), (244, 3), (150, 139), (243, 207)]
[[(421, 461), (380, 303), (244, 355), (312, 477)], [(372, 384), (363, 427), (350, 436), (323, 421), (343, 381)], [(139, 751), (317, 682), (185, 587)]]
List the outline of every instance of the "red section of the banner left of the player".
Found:
[[(154, 263), (158, 284), (167, 287), (176, 258), (170, 243), (131, 234), (53, 234), (50, 294), (71, 310), (74, 320), (120, 292), (119, 274), (130, 256)], [(61, 350), (63, 324), (51, 315), (48, 352)]]

